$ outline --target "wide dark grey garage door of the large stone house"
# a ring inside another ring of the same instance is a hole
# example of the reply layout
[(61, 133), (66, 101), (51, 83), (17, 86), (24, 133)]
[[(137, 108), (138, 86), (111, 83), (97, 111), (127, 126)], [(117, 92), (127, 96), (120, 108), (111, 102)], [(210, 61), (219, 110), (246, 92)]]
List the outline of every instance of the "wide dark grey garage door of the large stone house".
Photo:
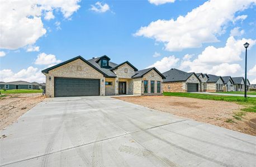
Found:
[(99, 80), (83, 78), (54, 78), (54, 96), (99, 96)]

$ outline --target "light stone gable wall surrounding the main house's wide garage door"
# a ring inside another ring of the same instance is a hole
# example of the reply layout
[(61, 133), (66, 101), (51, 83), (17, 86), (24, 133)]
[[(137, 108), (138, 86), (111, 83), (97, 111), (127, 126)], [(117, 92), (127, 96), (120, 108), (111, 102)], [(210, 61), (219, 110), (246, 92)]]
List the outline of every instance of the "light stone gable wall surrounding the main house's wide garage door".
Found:
[(45, 73), (45, 76), (46, 97), (54, 97), (54, 77), (100, 79), (100, 95), (105, 95), (105, 77), (103, 74), (80, 59), (54, 68), (53, 70), (50, 70), (49, 73)]

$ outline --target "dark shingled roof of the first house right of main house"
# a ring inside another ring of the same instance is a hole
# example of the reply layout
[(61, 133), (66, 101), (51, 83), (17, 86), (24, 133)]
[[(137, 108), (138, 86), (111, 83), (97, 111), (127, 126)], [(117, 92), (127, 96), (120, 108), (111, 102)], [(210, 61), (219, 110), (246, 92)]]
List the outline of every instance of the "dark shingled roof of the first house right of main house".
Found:
[(169, 71), (166, 71), (166, 72), (163, 73), (163, 75), (165, 76), (164, 82), (187, 81), (187, 79), (189, 77), (191, 77), (193, 74), (197, 77), (197, 79), (199, 81), (201, 81), (200, 78), (198, 78), (198, 76), (196, 75), (195, 72), (189, 72), (188, 73), (188, 72), (185, 72), (185, 71), (178, 70), (176, 68), (172, 68)]

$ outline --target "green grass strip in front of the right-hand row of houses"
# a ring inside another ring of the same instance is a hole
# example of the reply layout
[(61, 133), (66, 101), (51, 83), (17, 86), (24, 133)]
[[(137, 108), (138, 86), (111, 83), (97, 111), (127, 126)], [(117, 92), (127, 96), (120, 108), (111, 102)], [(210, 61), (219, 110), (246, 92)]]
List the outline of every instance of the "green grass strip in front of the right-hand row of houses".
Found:
[(196, 99), (206, 99), (206, 100), (220, 100), (236, 102), (237, 104), (245, 106), (243, 111), (246, 112), (256, 112), (256, 97), (244, 97), (239, 96), (221, 96), (221, 95), (205, 95), (205, 94), (191, 94), (191, 93), (179, 93), (179, 92), (164, 92), (164, 96), (179, 96), (179, 97), (191, 97)]

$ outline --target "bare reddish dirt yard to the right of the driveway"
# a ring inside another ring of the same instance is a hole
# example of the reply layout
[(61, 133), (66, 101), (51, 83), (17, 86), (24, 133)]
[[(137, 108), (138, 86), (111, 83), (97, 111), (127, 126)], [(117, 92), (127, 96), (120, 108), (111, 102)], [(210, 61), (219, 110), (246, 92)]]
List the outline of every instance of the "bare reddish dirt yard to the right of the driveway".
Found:
[[(243, 109), (243, 106), (233, 102), (173, 96), (115, 98), (149, 107), (150, 109), (169, 112), (174, 115), (256, 136), (256, 113), (240, 111)], [(240, 112), (245, 114), (242, 116), (242, 119), (234, 119), (234, 114)], [(234, 122), (227, 121), (229, 119), (232, 119)]]

